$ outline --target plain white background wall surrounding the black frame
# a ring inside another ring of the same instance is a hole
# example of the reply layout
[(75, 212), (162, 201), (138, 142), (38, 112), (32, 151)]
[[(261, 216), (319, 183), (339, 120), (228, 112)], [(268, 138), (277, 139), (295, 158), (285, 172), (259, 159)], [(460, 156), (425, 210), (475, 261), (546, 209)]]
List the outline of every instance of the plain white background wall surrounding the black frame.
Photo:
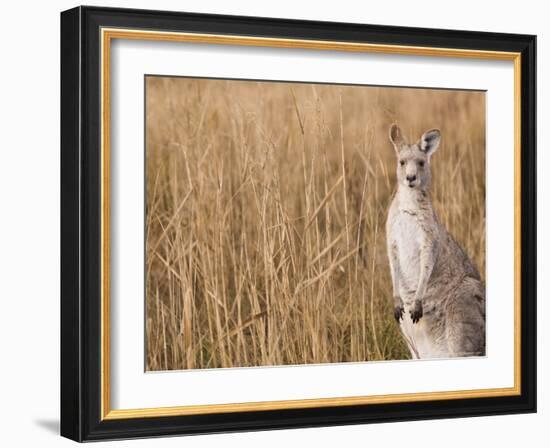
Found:
[[(336, 428), (125, 441), (96, 446), (498, 446), (548, 443), (550, 393), (544, 378), (550, 332), (542, 328), (550, 288), (550, 36), (544, 2), (393, 0), (145, 0), (88, 4), (537, 34), (539, 194), (539, 413)], [(0, 69), (0, 444), (69, 446), (59, 414), (59, 12), (78, 3), (2, 5)], [(546, 277), (547, 280), (544, 280)]]

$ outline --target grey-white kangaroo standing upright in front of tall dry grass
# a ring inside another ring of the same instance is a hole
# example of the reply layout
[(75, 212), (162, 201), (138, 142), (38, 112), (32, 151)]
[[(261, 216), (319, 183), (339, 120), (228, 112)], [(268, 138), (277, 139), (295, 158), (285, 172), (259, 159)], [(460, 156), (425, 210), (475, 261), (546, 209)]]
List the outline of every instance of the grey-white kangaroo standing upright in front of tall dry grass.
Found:
[(413, 358), (485, 355), (485, 287), (464, 250), (439, 221), (430, 158), (438, 129), (408, 144), (397, 125), (397, 192), (386, 222), (394, 317)]

